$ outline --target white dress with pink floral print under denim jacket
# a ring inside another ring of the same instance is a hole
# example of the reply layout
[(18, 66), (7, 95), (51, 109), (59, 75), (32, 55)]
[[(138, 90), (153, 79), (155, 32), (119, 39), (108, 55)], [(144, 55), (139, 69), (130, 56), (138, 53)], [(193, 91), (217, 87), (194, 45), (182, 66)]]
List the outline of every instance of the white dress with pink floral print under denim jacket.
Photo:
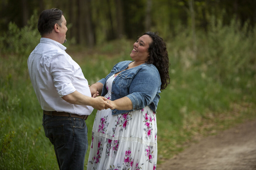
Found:
[[(106, 81), (111, 98), (112, 82)], [(142, 110), (112, 115), (111, 109), (97, 111), (87, 164), (88, 169), (156, 169), (156, 115), (146, 106)]]

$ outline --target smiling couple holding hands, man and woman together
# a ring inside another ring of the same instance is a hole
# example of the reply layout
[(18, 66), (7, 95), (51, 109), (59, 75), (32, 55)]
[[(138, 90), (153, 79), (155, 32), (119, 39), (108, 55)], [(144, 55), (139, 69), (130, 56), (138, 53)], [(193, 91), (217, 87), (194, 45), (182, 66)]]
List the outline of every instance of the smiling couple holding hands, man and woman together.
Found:
[(89, 86), (62, 45), (66, 24), (61, 10), (42, 11), (42, 38), (27, 62), (59, 168), (83, 169), (88, 149), (85, 120), (94, 108), (98, 111), (87, 169), (155, 169), (156, 108), (170, 81), (165, 42), (155, 33), (144, 33), (131, 48), (131, 61), (113, 63), (105, 78)]

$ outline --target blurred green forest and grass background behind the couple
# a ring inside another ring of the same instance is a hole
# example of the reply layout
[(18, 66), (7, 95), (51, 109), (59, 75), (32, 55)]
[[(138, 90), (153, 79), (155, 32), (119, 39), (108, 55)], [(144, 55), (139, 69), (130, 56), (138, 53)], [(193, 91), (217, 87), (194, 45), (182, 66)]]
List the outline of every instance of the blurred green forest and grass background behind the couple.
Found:
[(164, 38), (171, 81), (157, 108), (158, 164), (256, 117), (255, 0), (0, 0), (0, 169), (58, 169), (27, 70), (39, 14), (49, 8), (64, 11), (66, 51), (89, 84), (131, 60), (137, 36)]

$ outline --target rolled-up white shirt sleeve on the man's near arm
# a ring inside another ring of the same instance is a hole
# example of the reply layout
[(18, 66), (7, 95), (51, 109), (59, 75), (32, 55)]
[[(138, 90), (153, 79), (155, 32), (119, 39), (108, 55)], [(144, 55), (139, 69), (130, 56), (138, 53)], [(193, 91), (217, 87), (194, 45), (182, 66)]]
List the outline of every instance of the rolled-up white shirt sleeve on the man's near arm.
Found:
[(67, 56), (60, 53), (52, 57), (49, 61), (49, 71), (60, 97), (76, 91), (72, 84), (76, 70)]

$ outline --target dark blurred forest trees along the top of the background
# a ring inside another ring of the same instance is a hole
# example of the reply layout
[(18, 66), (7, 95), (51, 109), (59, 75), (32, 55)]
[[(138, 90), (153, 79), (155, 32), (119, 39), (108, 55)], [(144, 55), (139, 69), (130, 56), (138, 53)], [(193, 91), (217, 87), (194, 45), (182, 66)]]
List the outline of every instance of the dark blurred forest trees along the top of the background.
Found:
[(145, 31), (157, 31), (170, 40), (190, 28), (196, 50), (196, 32), (207, 32), (212, 16), (222, 18), (224, 25), (233, 18), (241, 26), (256, 22), (255, 0), (0, 0), (0, 36), (9, 22), (22, 28), (33, 14), (37, 19), (49, 8), (64, 12), (67, 38), (88, 47), (121, 37), (136, 39)]

